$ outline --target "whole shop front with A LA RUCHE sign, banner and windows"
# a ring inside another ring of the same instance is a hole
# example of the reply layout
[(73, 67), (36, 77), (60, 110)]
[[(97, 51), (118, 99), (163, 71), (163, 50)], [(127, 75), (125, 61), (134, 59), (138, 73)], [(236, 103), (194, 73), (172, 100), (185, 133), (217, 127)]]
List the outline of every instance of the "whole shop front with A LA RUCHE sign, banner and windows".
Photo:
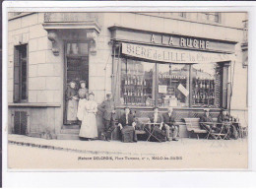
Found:
[[(147, 116), (155, 106), (174, 108), (176, 119), (197, 117), (205, 107), (217, 117), (228, 109), (229, 66), (235, 41), (109, 28), (113, 40), (113, 88), (121, 109)], [(185, 126), (181, 136), (186, 136)]]

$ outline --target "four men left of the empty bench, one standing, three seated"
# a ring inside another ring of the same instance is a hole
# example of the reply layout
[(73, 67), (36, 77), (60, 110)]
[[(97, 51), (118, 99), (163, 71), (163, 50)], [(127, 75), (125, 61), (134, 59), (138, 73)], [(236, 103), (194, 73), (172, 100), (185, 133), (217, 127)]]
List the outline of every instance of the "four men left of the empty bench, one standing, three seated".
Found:
[[(98, 110), (103, 113), (103, 132), (101, 133), (101, 139), (109, 141), (112, 131), (115, 129), (115, 108), (114, 102), (111, 99), (111, 95), (107, 95), (107, 99), (104, 100), (99, 106)], [(118, 126), (121, 130), (121, 134), (125, 134), (126, 131), (133, 131), (133, 141), (137, 142), (137, 131), (140, 130), (138, 122), (135, 117), (135, 112), (132, 112), (129, 107), (124, 108), (124, 113), (118, 118)], [(154, 113), (150, 116), (150, 121), (153, 126), (149, 125), (148, 132), (152, 132), (153, 128), (157, 129), (156, 132), (161, 131), (164, 135), (165, 141), (178, 141), (178, 126), (175, 124), (175, 118), (173, 115), (172, 107), (168, 108), (166, 113), (161, 114), (159, 108), (154, 108)], [(156, 127), (157, 126), (157, 127)], [(172, 133), (170, 138), (170, 133)]]

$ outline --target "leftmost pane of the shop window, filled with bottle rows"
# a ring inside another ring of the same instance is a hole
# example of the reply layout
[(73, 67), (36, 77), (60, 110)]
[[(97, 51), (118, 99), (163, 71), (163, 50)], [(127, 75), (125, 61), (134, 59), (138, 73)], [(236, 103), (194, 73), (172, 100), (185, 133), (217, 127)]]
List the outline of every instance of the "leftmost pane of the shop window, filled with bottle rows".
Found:
[(156, 64), (126, 59), (121, 68), (121, 104), (155, 105)]

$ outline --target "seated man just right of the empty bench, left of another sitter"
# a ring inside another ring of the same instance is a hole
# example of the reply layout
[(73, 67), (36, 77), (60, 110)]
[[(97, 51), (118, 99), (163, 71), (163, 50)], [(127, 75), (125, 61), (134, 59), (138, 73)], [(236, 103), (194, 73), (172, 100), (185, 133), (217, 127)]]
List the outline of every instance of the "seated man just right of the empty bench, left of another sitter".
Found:
[[(205, 113), (203, 116), (200, 117), (199, 124), (201, 129), (207, 130), (208, 132), (214, 132), (216, 130), (216, 125), (214, 124), (214, 121), (212, 117), (210, 116), (209, 109), (204, 109)], [(214, 139), (217, 139), (215, 135), (211, 136)]]

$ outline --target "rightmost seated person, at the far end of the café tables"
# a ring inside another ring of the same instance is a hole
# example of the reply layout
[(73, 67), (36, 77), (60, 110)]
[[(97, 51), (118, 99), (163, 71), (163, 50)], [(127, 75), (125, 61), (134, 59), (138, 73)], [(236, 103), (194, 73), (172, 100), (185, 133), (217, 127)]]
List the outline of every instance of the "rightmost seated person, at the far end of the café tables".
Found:
[(230, 139), (232, 136), (237, 139), (238, 137), (238, 133), (237, 130), (235, 128), (235, 126), (233, 126), (230, 121), (230, 116), (227, 114), (227, 110), (222, 109), (222, 111), (220, 112), (219, 116), (218, 116), (218, 123), (220, 128), (222, 127), (222, 125), (224, 125), (224, 132), (227, 133), (227, 139)]

